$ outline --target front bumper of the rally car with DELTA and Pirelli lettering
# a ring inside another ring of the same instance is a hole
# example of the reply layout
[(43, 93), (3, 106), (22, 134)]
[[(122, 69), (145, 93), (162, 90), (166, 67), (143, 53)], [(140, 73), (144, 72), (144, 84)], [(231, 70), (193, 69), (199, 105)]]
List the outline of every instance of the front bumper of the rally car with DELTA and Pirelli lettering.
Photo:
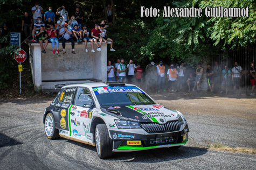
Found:
[(113, 140), (113, 152), (141, 151), (152, 148), (182, 146), (188, 141), (188, 132), (188, 125), (183, 126), (183, 129), (180, 131), (154, 134), (109, 130), (110, 137)]

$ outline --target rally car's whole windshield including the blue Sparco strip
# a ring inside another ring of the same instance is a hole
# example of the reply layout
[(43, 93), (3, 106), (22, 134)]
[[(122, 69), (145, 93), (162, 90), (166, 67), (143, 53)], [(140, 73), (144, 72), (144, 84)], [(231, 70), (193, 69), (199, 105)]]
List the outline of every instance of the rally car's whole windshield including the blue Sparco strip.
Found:
[(156, 104), (144, 91), (134, 86), (106, 86), (93, 90), (101, 107)]

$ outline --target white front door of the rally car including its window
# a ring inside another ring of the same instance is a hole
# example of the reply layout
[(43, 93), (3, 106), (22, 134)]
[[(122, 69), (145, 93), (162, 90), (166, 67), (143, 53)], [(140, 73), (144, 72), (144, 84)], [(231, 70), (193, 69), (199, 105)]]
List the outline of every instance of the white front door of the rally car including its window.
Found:
[(92, 95), (88, 88), (78, 87), (74, 105), (71, 107), (71, 128), (74, 137), (92, 142), (92, 133), (89, 129), (95, 107)]

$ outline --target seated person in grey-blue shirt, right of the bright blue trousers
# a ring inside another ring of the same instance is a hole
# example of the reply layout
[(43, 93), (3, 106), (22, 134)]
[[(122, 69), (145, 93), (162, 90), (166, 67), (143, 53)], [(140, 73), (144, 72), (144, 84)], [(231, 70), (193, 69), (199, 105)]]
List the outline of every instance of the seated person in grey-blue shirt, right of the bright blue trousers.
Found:
[(60, 29), (59, 35), (63, 37), (61, 39), (62, 47), (63, 47), (63, 54), (66, 53), (65, 51), (65, 42), (70, 41), (72, 46), (72, 54), (75, 54), (75, 42), (72, 39), (72, 30), (67, 28), (67, 23), (64, 23), (64, 28)]

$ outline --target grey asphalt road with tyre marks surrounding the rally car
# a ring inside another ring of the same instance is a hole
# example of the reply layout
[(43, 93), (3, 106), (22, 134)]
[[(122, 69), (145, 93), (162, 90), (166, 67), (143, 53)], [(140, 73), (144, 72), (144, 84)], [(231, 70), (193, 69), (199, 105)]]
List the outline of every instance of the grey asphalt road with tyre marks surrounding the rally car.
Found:
[(46, 138), (42, 116), (53, 95), (2, 100), (0, 169), (255, 169), (256, 155), (205, 148), (211, 143), (256, 148), (255, 98), (152, 96), (183, 112), (190, 128), (188, 143), (177, 151), (122, 152), (105, 160), (93, 146)]

